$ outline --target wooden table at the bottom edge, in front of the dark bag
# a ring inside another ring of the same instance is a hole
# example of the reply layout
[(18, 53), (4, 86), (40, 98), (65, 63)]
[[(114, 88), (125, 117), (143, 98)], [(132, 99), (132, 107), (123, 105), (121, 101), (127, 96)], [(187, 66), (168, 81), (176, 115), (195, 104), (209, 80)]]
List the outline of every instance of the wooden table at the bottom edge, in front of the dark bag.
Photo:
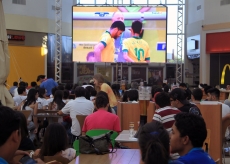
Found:
[(140, 164), (139, 149), (117, 149), (115, 153), (96, 155), (80, 154), (69, 164)]

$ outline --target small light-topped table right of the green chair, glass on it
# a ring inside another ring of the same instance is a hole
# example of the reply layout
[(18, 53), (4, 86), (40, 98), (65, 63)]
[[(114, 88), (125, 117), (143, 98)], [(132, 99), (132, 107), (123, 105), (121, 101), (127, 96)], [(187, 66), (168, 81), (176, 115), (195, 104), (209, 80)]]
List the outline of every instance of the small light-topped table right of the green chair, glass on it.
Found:
[[(136, 133), (136, 131), (135, 131)], [(121, 142), (123, 146), (127, 146), (131, 149), (139, 149), (138, 139), (129, 137), (129, 130), (123, 130), (115, 139), (115, 141)]]

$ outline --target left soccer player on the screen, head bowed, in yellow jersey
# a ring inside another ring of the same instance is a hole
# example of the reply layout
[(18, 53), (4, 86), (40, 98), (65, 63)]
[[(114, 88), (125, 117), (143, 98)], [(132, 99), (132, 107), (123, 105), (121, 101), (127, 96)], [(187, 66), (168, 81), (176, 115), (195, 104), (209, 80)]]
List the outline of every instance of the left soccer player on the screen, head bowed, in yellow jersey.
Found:
[(94, 57), (97, 62), (114, 62), (114, 39), (125, 31), (122, 21), (115, 21), (110, 29), (102, 34), (100, 42), (94, 47)]

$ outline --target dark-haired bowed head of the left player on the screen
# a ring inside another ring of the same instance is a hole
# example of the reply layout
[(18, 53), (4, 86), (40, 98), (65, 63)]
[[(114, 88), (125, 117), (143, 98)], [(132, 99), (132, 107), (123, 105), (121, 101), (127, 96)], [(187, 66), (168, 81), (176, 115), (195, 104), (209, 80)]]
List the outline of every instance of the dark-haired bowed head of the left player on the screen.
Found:
[(115, 21), (110, 27), (110, 35), (117, 39), (125, 31), (125, 24), (122, 21)]

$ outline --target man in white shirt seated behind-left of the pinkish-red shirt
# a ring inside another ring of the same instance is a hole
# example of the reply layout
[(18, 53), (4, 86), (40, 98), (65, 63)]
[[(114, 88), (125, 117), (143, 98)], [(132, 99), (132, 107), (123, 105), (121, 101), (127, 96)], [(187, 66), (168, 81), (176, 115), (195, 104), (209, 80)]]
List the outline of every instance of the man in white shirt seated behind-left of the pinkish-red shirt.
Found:
[(93, 113), (94, 110), (93, 102), (84, 97), (85, 92), (83, 87), (77, 87), (75, 89), (76, 99), (69, 101), (64, 108), (58, 112), (59, 115), (70, 114), (72, 127), (68, 130), (68, 136), (71, 143), (73, 139), (75, 140), (76, 137), (81, 135), (81, 128), (76, 115), (89, 115)]

